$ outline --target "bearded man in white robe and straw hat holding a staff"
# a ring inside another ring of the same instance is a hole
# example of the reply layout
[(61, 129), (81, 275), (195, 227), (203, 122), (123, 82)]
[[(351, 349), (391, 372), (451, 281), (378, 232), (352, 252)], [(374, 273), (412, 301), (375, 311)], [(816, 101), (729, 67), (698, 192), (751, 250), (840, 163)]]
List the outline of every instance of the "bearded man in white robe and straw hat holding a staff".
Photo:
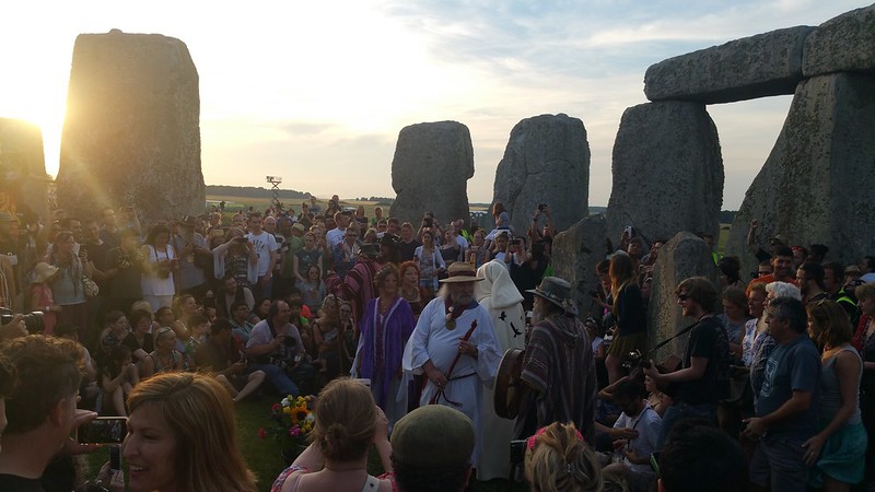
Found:
[(481, 405), (491, 405), (482, 401), (483, 386), (492, 387), (501, 362), (489, 312), (474, 297), (474, 283), (479, 280), (471, 263), (450, 266), (438, 296), (422, 309), (404, 356), (407, 374), (428, 377), (420, 406), (443, 405), (474, 422), (475, 468), (483, 437)]

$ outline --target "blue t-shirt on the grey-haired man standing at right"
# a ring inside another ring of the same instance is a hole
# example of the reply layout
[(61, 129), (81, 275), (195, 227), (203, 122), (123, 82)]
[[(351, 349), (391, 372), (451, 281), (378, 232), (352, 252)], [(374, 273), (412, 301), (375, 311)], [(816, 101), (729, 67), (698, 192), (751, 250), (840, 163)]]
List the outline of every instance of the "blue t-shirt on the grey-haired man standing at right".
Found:
[(808, 410), (784, 419), (769, 427), (769, 436), (780, 435), (805, 441), (817, 432), (817, 385), (820, 377), (820, 354), (805, 335), (778, 345), (769, 355), (762, 387), (757, 398), (757, 417), (778, 410), (790, 400), (794, 390), (812, 394)]

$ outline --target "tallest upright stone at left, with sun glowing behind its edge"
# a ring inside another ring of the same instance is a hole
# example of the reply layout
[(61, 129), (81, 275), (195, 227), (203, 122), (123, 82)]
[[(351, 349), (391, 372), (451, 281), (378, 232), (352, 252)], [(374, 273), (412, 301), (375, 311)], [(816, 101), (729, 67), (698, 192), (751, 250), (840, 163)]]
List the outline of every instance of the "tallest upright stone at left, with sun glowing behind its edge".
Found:
[(80, 215), (135, 204), (147, 221), (200, 213), (198, 73), (179, 39), (77, 37), (58, 201)]

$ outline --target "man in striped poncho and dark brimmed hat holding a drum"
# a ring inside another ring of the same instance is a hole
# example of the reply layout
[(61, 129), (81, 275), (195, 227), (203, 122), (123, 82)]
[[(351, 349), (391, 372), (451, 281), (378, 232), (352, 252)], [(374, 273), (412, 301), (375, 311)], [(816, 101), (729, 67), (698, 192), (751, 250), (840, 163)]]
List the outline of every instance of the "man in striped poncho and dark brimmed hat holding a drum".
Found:
[(598, 382), (586, 329), (571, 301), (571, 285), (545, 277), (535, 294), (533, 323), (522, 379), (526, 393), (514, 427), (517, 438), (553, 422), (573, 422), (593, 442)]

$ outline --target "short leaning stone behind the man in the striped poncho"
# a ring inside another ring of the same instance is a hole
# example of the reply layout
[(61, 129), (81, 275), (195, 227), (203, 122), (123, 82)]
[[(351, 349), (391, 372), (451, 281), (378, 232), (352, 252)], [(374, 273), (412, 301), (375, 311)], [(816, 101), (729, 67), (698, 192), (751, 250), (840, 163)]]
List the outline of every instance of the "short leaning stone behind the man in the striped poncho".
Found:
[[(582, 318), (590, 316), (593, 300), (588, 292), (598, 285), (595, 266), (605, 259), (605, 215), (590, 215), (553, 239), (552, 260), (556, 277), (568, 280), (571, 296)], [(600, 317), (600, 314), (596, 314)]]

